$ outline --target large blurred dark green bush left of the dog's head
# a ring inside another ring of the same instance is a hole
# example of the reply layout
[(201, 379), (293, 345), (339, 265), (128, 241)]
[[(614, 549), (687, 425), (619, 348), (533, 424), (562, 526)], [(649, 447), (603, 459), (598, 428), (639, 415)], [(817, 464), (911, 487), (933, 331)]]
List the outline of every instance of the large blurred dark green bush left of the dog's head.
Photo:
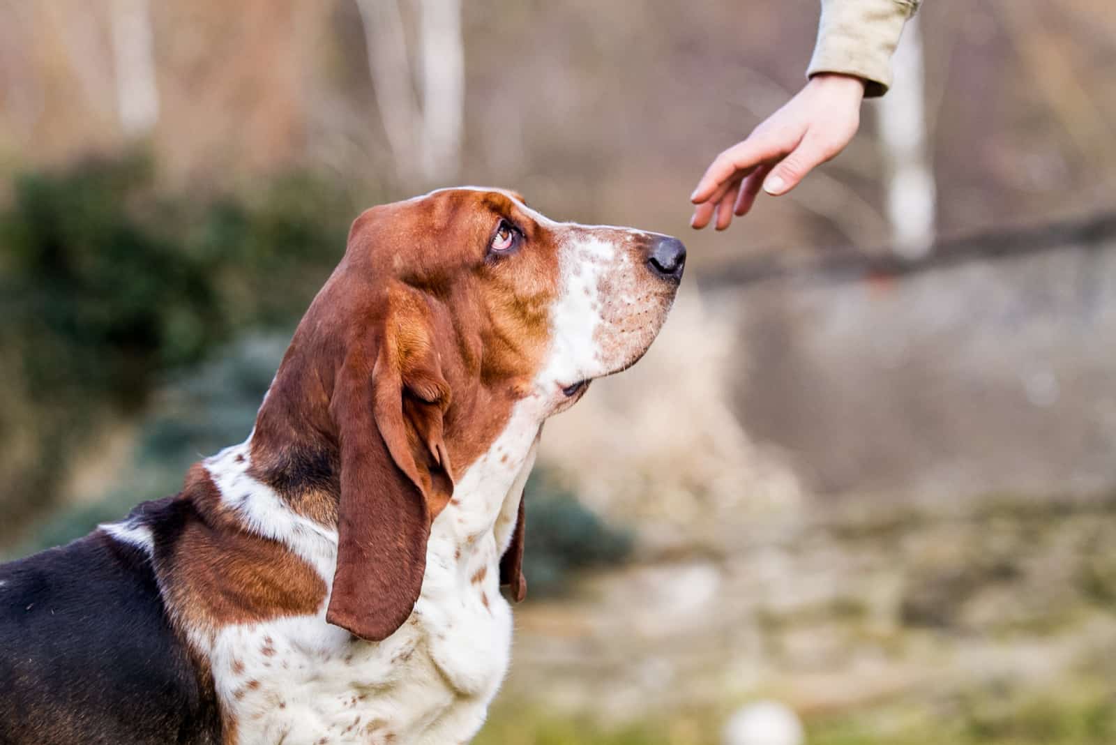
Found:
[(353, 212), (305, 174), (251, 199), (160, 194), (143, 155), (17, 176), (0, 211), (3, 530), (49, 506), (74, 453), (165, 373), (292, 323)]

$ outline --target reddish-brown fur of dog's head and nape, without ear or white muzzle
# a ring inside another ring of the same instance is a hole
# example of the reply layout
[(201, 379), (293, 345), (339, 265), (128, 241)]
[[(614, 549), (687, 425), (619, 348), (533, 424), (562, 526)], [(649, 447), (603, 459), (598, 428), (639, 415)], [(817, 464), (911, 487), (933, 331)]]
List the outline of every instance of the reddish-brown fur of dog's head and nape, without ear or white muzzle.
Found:
[[(523, 231), (525, 244), (493, 262), (488, 242), (501, 217)], [(260, 410), (253, 475), (308, 516), (330, 512), (305, 504), (321, 492), (331, 493), (336, 507), (339, 458), (330, 454), (338, 451), (337, 412), (329, 409), (338, 374), (355, 342), (373, 337), (382, 345), (394, 329), (403, 359), (421, 358), (427, 345), (437, 349), (450, 393), (445, 447), (451, 475), (460, 477), (502, 429), (542, 361), (560, 242), (558, 231), (535, 223), (500, 192), (443, 191), (363, 213)], [(371, 351), (365, 380), (372, 380), (378, 350)], [(431, 400), (430, 383), (420, 376), (414, 395)], [(412, 441), (415, 449), (427, 444)], [(334, 513), (327, 524), (336, 524)]]

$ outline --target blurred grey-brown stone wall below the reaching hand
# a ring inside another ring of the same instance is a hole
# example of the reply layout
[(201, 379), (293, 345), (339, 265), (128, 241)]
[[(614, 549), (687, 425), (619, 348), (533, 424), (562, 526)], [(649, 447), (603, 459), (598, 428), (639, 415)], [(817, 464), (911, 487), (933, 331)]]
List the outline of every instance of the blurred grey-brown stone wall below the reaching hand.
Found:
[(733, 410), (820, 494), (931, 500), (1116, 484), (1116, 224), (826, 257), (706, 290), (733, 319)]

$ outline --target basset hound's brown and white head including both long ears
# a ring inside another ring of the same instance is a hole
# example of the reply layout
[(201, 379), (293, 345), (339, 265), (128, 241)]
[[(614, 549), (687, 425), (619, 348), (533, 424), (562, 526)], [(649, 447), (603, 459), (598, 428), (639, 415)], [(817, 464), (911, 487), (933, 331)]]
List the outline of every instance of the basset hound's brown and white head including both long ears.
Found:
[[(537, 432), (635, 362), (684, 261), (675, 239), (557, 223), (499, 190), (437, 191), (356, 220), (252, 441), (261, 477), (336, 521), (331, 623), (383, 639), (406, 620), (431, 523), (512, 407)], [(517, 594), (521, 554), (512, 545), (504, 562)]]

